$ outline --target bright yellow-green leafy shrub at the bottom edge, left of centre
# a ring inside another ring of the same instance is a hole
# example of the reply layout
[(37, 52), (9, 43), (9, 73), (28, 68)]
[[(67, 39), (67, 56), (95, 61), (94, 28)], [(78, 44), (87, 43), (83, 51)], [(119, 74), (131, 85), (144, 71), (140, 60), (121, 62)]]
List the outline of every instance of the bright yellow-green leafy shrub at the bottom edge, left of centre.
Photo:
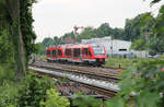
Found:
[(69, 99), (66, 97), (60, 97), (60, 94), (54, 90), (47, 90), (47, 97), (46, 102), (40, 102), (40, 106), (43, 107), (69, 107), (70, 103)]

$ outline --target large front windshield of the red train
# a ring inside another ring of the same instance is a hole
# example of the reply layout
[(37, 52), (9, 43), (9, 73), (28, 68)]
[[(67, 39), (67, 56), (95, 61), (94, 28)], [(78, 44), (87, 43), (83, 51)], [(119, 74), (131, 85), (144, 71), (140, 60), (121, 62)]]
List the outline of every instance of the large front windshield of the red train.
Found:
[(93, 46), (94, 55), (95, 56), (104, 56), (105, 50), (103, 46)]

